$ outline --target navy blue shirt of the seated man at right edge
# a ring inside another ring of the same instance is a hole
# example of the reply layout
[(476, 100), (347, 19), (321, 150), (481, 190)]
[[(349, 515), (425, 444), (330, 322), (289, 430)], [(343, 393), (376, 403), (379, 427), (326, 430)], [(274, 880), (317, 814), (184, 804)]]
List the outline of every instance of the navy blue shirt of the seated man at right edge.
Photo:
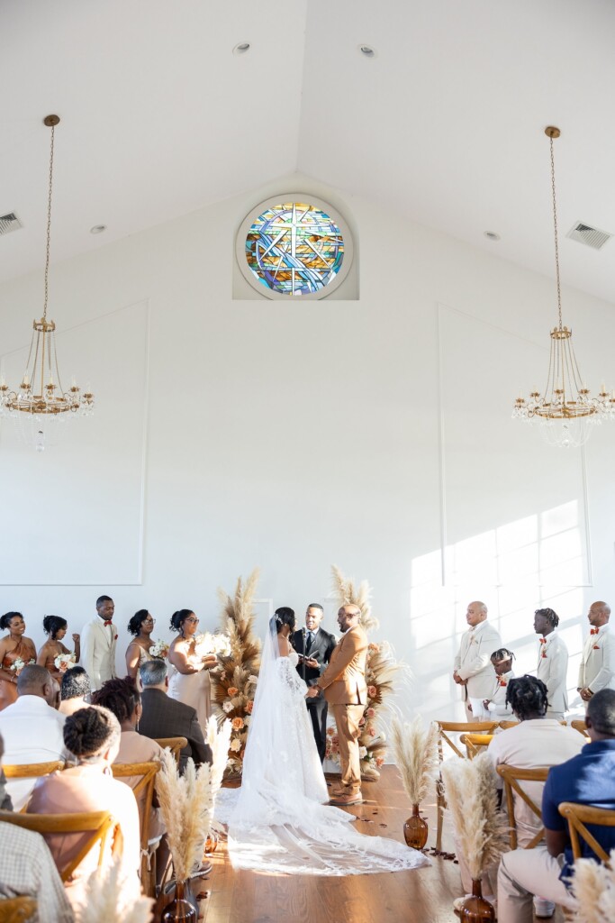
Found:
[[(562, 801), (615, 810), (615, 739), (585, 744), (578, 756), (550, 769), (542, 792), (542, 822), (548, 830), (568, 830), (568, 821), (558, 810)], [(596, 837), (605, 852), (615, 849), (615, 827), (588, 824), (587, 830)], [(580, 840), (580, 843), (584, 857), (597, 858), (585, 840)], [(564, 856), (562, 880), (573, 874), (574, 859), (570, 845), (564, 849)]]

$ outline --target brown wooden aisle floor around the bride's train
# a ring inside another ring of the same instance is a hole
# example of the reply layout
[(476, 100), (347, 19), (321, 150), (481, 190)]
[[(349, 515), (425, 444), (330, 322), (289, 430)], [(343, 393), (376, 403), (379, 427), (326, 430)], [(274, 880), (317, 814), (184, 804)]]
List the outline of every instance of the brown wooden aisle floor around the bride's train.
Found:
[[(410, 810), (394, 766), (384, 766), (377, 783), (363, 783), (366, 802), (350, 810), (366, 836), (404, 842)], [(424, 806), (430, 825), (428, 849), (435, 845), (435, 792)], [(444, 849), (453, 849), (444, 828)], [(235, 871), (221, 843), (214, 869), (204, 882), (209, 896), (200, 903), (207, 923), (453, 923), (453, 899), (462, 893), (459, 867), (432, 857), (432, 865), (378, 875), (274, 875)]]

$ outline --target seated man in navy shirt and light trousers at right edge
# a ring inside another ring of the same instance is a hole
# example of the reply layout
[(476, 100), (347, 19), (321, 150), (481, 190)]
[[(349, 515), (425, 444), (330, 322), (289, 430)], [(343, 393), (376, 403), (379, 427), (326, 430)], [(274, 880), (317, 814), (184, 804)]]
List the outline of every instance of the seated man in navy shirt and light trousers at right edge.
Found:
[[(585, 723), (590, 743), (571, 760), (553, 766), (544, 786), (545, 844), (503, 854), (498, 872), (500, 923), (532, 923), (532, 898), (536, 893), (555, 904), (572, 905), (566, 880), (574, 876), (574, 860), (568, 824), (558, 810), (562, 801), (615, 810), (614, 689), (600, 689), (592, 696)], [(548, 749), (547, 742), (543, 746)], [(607, 853), (615, 848), (614, 827), (590, 829)], [(585, 857), (595, 858), (585, 842), (581, 845)]]

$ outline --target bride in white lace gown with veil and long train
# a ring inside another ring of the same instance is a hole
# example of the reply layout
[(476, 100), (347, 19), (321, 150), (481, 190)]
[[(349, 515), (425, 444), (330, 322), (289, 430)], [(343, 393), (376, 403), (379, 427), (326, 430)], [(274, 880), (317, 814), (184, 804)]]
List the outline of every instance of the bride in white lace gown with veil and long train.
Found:
[(357, 833), (349, 823), (356, 820), (352, 814), (326, 805), (325, 775), (305, 707), (307, 687), (295, 669), (298, 654), (290, 647), (294, 628), (295, 614), (286, 607), (269, 622), (242, 787), (219, 793), (225, 797), (217, 815), (229, 823), (233, 866), (359, 875), (427, 865), (426, 857), (406, 845)]

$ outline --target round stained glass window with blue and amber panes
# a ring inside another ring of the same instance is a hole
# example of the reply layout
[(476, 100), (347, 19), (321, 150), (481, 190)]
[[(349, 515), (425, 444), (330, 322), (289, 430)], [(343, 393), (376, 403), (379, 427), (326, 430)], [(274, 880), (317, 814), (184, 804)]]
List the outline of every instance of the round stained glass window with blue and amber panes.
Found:
[(269, 298), (319, 298), (332, 291), (329, 286), (337, 287), (351, 262), (349, 232), (327, 209), (313, 198), (285, 198), (248, 216), (237, 255), (257, 291)]

